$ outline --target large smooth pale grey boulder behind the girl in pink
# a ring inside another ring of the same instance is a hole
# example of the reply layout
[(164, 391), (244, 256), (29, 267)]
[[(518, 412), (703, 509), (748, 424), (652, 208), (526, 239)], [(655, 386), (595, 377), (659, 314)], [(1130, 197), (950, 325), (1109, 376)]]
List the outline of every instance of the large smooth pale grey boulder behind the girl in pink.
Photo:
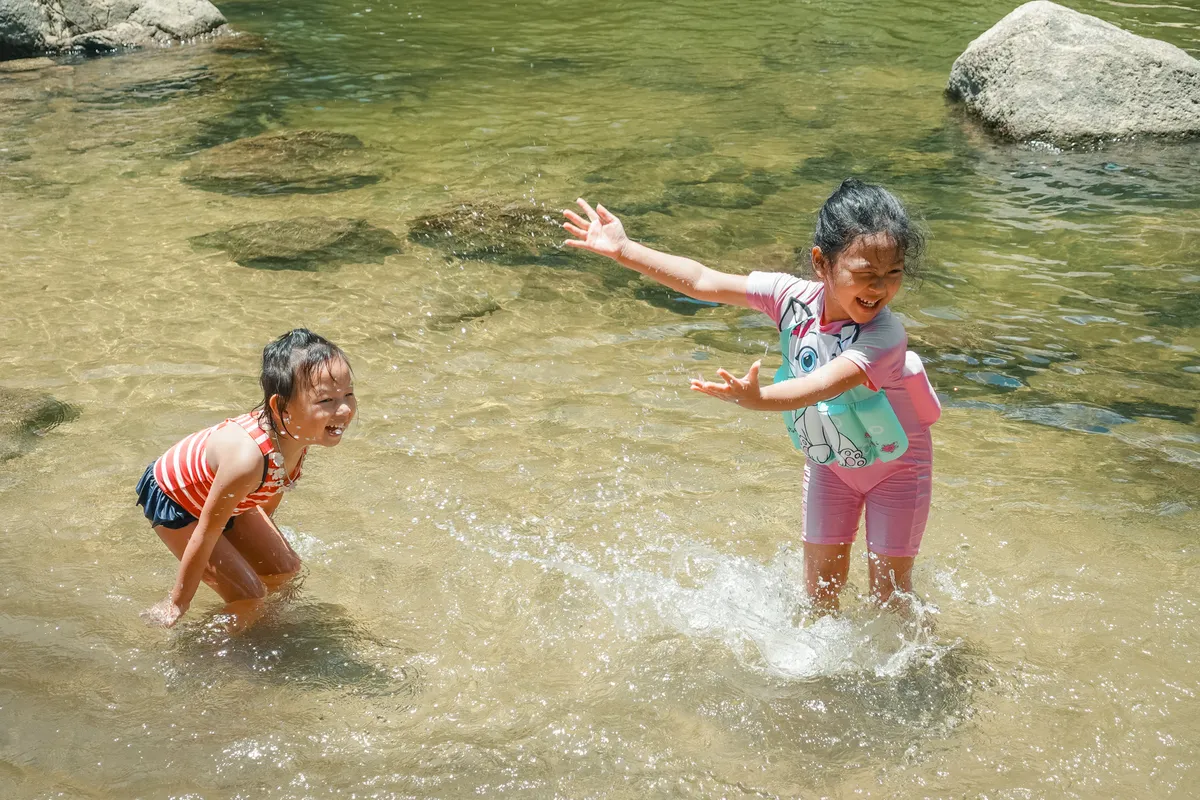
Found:
[(1200, 136), (1200, 61), (1040, 0), (971, 42), (946, 91), (995, 133), (1020, 142)]

